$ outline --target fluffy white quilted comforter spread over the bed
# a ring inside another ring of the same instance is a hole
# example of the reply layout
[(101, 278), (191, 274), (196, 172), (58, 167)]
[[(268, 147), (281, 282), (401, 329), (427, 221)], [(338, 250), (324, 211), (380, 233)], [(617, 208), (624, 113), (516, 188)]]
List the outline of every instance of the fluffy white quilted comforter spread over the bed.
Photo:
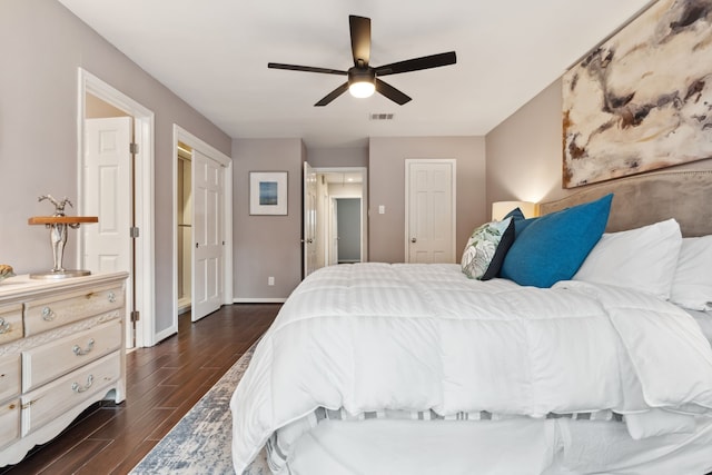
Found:
[(295, 289), (233, 396), (236, 472), (319, 406), (702, 413), (712, 350), (686, 313), (632, 290), (482, 283), (457, 265), (334, 266)]

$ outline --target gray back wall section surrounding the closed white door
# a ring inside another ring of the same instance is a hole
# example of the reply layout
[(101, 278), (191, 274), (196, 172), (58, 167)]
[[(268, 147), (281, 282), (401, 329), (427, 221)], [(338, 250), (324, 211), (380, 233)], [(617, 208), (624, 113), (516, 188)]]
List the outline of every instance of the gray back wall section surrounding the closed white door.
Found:
[[(487, 211), (484, 137), (372, 138), (368, 168), (368, 260), (405, 259), (405, 159), (457, 160), (457, 229), (455, 257), (459, 259), (475, 225)], [(384, 205), (386, 212), (378, 214)]]

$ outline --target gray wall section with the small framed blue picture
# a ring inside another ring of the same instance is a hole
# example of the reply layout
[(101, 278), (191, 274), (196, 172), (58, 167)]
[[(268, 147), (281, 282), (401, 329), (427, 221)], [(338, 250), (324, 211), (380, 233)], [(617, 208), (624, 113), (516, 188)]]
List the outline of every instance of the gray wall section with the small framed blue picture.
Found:
[[(301, 167), (306, 149), (300, 139), (235, 139), (234, 165), (234, 297), (237, 301), (284, 299), (301, 280)], [(287, 216), (249, 215), (249, 172), (287, 171)], [(267, 278), (275, 278), (268, 286)]]

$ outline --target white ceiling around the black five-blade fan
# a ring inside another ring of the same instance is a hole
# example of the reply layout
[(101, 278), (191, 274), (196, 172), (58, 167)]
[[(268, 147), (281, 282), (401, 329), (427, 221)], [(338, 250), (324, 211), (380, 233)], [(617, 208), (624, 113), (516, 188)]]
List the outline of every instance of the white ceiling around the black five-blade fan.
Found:
[[(650, 0), (59, 0), (233, 138), (481, 136)], [(344, 77), (267, 69), (353, 66), (348, 16), (372, 19), (372, 66), (456, 51), (457, 63), (384, 78), (413, 100), (348, 93)], [(393, 112), (392, 121), (370, 113)]]

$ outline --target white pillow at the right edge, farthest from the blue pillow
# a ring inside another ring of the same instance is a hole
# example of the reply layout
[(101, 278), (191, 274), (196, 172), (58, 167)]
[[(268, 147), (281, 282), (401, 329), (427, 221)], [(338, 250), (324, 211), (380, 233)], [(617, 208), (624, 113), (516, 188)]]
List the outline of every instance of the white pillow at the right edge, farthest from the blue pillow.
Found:
[(712, 235), (682, 240), (670, 299), (691, 310), (712, 310)]

